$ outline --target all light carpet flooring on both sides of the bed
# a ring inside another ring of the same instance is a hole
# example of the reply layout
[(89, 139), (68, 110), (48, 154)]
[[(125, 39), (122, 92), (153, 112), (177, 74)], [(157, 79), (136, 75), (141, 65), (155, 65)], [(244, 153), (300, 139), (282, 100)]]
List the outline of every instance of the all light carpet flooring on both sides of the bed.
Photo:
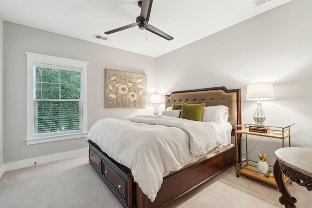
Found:
[[(311, 193), (288, 186), (297, 208), (312, 207)], [(166, 208), (283, 208), (277, 188), (240, 175), (231, 167), (212, 181), (189, 191)], [(5, 172), (0, 179), (1, 208), (122, 208), (88, 162), (62, 160)]]

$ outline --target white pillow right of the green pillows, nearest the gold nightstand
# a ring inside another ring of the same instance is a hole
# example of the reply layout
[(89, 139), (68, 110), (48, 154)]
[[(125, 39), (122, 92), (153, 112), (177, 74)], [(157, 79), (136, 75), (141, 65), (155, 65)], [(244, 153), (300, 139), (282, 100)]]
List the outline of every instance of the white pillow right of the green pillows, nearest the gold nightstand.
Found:
[(204, 122), (224, 123), (229, 119), (229, 108), (224, 105), (207, 106), (201, 117)]

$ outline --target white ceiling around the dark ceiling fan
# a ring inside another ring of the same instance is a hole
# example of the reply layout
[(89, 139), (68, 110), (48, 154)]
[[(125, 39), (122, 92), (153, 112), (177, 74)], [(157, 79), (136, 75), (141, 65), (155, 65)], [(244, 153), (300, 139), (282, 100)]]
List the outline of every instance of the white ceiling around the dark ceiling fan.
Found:
[[(42, 30), (158, 57), (291, 0), (154, 0), (149, 24), (174, 37), (168, 41), (133, 27), (105, 31), (136, 21), (137, 0), (0, 0), (0, 16)], [(107, 40), (93, 38), (95, 34)]]

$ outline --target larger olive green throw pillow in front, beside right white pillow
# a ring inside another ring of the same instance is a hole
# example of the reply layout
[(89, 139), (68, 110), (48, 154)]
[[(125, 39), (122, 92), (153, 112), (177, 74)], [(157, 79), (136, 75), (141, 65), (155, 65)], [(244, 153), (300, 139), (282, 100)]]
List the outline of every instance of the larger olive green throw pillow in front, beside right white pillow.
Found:
[(181, 114), (180, 118), (201, 121), (201, 115), (203, 114), (206, 103), (201, 104), (188, 104), (181, 102)]

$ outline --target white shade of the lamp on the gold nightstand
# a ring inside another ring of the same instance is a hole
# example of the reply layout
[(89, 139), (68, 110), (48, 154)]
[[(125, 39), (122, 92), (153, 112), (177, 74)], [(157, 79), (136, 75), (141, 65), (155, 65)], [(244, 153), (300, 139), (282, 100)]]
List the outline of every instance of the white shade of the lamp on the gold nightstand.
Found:
[(272, 82), (258, 82), (247, 85), (246, 100), (272, 100), (274, 98)]

